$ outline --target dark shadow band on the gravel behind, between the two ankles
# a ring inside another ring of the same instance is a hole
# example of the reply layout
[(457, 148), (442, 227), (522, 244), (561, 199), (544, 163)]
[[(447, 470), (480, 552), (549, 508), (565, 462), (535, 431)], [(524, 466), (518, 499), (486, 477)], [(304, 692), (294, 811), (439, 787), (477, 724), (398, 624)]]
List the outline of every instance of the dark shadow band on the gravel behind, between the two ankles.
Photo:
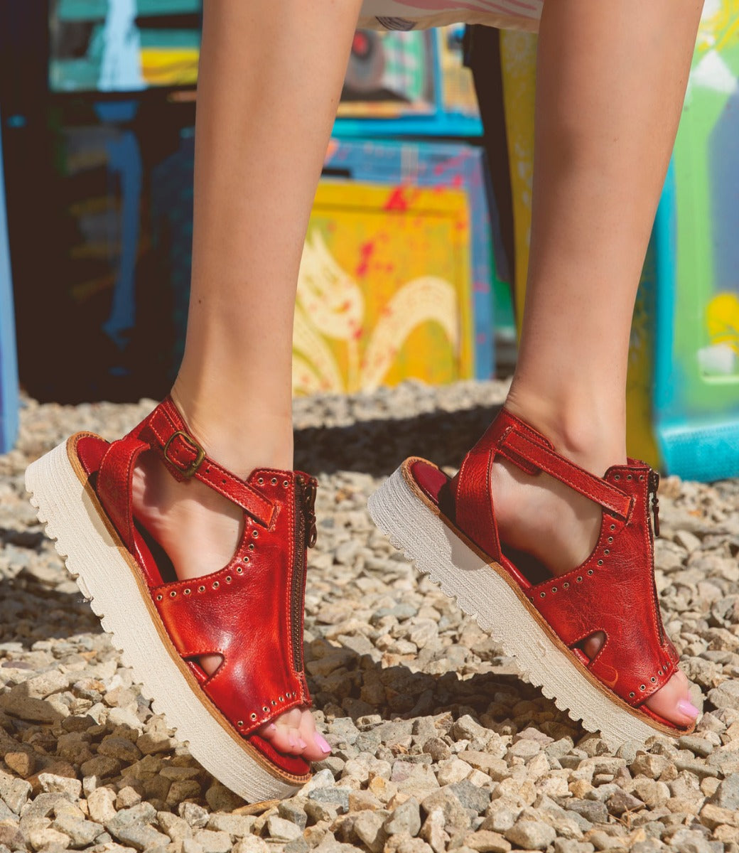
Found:
[(346, 427), (307, 427), (295, 432), (295, 467), (310, 473), (358, 471), (385, 476), (407, 456), (459, 467), (500, 405), (411, 418), (357, 421)]

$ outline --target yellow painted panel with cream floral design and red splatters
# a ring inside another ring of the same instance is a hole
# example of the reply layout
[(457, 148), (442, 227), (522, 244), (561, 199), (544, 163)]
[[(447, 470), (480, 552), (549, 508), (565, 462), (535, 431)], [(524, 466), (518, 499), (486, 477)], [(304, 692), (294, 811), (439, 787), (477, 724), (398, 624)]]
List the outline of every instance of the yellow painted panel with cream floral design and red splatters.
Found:
[(321, 183), (298, 278), (293, 392), (471, 378), (470, 240), (459, 190)]

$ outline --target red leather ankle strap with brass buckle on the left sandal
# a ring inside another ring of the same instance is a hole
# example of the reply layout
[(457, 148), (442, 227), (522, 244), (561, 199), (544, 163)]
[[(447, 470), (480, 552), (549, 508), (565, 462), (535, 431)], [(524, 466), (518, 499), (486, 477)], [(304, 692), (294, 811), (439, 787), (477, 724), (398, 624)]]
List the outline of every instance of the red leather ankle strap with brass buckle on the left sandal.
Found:
[(194, 478), (216, 490), (250, 514), (260, 525), (269, 527), (274, 519), (274, 503), (253, 486), (213, 461), (190, 434), (171, 397), (159, 403), (145, 421), (141, 434), (178, 480)]

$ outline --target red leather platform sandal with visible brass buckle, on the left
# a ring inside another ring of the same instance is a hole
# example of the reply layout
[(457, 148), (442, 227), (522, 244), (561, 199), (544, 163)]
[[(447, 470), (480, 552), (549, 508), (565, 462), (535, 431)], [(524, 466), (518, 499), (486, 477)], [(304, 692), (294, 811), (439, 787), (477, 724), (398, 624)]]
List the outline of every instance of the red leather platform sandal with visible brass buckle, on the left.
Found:
[[(176, 580), (134, 520), (133, 469), (150, 449), (176, 479), (199, 479), (243, 509), (243, 536), (221, 571)], [(39, 519), (143, 693), (205, 769), (251, 802), (309, 780), (309, 763), (275, 751), (257, 728), (310, 705), (303, 609), (316, 485), (293, 471), (235, 477), (205, 455), (169, 398), (113, 444), (78, 432), (26, 473)], [(196, 661), (214, 653), (222, 664), (206, 676)]]

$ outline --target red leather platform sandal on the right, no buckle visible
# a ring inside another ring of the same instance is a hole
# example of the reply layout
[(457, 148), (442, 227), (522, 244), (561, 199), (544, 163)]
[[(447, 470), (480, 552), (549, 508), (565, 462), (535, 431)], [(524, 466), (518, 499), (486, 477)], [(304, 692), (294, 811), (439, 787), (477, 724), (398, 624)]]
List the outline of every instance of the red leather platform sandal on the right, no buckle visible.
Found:
[[(528, 474), (545, 471), (600, 504), (598, 544), (582, 565), (536, 583), (506, 557), (490, 492), (497, 456)], [(369, 509), (419, 571), (517, 658), (528, 682), (616, 747), (695, 728), (677, 728), (644, 705), (678, 665), (654, 581), (649, 504), (651, 496), (656, 527), (658, 484), (658, 474), (631, 459), (595, 477), (504, 409), (456, 477), (424, 459), (407, 459), (370, 498)], [(598, 631), (606, 639), (590, 660), (578, 645)]]

